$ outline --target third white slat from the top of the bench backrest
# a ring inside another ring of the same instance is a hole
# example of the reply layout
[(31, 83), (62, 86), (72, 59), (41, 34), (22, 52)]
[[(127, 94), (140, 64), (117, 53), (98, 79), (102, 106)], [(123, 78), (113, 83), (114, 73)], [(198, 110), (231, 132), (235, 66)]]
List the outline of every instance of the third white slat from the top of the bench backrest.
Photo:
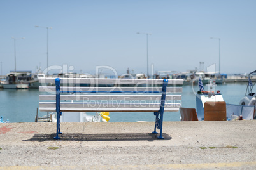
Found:
[[(39, 100), (56, 100), (56, 95), (39, 95)], [(108, 101), (131, 101), (131, 100), (148, 100), (148, 101), (160, 101), (161, 95), (60, 95), (60, 100), (75, 100), (75, 101), (87, 101), (87, 100), (108, 100)], [(167, 100), (181, 100), (181, 95), (166, 95)]]

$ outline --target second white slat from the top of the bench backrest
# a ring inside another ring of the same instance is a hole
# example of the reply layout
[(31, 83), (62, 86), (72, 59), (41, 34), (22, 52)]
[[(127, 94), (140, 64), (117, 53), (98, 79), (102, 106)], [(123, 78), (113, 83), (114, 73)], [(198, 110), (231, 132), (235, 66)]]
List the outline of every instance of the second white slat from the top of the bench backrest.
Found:
[[(39, 86), (40, 92), (49, 92), (53, 93), (55, 92), (56, 88), (55, 86)], [(115, 92), (122, 92), (122, 93), (129, 93), (132, 91), (136, 91), (138, 93), (161, 93), (162, 87), (62, 87), (60, 86), (60, 91), (69, 91), (72, 92), (78, 92), (81, 91), (83, 93), (87, 92), (97, 92), (97, 93), (115, 93)], [(167, 93), (181, 93), (182, 88), (181, 87), (167, 87), (166, 88)]]

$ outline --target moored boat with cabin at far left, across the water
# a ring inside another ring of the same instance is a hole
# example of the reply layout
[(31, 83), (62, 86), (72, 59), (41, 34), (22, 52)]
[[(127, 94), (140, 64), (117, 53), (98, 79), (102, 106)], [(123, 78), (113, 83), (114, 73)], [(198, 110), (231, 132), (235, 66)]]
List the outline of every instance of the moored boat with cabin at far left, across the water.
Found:
[(24, 77), (27, 74), (19, 72), (10, 72), (7, 74), (6, 82), (2, 84), (4, 89), (27, 89), (29, 84), (24, 82)]

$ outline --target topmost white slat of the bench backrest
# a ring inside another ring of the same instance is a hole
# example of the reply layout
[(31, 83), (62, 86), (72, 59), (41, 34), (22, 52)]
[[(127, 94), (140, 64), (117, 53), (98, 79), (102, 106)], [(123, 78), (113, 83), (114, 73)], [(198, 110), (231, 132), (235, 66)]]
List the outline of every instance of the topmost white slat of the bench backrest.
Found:
[[(55, 79), (39, 79), (39, 83), (55, 84)], [(162, 84), (162, 79), (95, 79), (95, 78), (60, 78), (62, 84)], [(168, 84), (182, 85), (183, 79), (168, 79)]]

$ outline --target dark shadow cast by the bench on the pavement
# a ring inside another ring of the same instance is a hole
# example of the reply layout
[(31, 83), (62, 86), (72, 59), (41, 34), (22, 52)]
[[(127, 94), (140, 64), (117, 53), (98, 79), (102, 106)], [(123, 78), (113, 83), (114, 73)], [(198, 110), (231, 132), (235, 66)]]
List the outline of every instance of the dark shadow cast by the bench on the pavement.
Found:
[[(34, 134), (31, 139), (24, 141), (55, 141), (56, 134)], [(171, 136), (162, 133), (164, 139), (158, 139), (157, 134), (152, 133), (104, 133), (104, 134), (82, 134), (65, 133), (59, 134), (59, 141), (154, 141), (171, 140)]]

